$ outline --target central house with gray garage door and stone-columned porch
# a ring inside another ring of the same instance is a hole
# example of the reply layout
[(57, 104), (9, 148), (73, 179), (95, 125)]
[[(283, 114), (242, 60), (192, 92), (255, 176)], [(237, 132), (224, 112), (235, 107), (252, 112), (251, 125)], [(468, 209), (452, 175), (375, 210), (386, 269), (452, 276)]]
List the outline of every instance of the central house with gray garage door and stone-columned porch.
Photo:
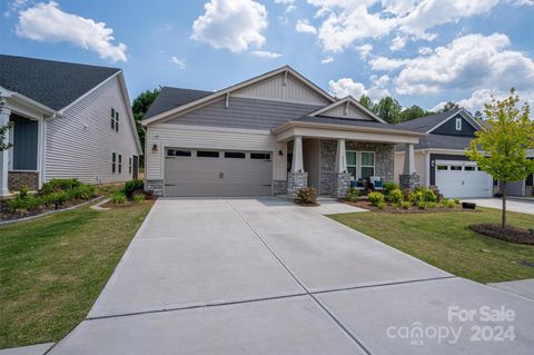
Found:
[(424, 136), (287, 66), (216, 92), (164, 88), (142, 124), (146, 186), (164, 196), (295, 195), (304, 186), (339, 196), (350, 179), (393, 180), (395, 145)]

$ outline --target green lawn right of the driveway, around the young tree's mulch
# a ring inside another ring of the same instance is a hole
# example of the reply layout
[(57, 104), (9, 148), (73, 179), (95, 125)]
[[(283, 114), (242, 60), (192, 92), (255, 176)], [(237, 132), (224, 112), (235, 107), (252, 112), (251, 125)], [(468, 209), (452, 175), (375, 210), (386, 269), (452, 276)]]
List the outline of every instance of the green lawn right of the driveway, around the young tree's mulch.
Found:
[[(498, 224), (498, 209), (436, 214), (369, 211), (330, 217), (461, 277), (479, 283), (534, 277), (534, 267), (517, 264), (517, 260), (534, 263), (534, 246), (485, 237), (467, 228), (476, 223)], [(534, 227), (532, 215), (508, 213), (508, 219), (512, 226)]]

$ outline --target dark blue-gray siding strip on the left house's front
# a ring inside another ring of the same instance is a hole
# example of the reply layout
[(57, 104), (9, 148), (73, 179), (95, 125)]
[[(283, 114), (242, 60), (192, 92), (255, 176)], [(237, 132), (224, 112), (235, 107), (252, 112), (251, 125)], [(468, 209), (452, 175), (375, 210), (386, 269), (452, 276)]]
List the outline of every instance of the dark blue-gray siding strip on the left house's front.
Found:
[(37, 170), (37, 145), (39, 124), (12, 115), (13, 129), (13, 170)]

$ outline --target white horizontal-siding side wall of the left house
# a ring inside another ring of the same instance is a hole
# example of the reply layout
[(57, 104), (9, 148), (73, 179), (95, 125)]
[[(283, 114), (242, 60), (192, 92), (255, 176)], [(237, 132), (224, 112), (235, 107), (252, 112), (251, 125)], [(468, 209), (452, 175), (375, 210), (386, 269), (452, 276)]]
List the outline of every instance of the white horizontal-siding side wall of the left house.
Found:
[[(111, 108), (119, 112), (118, 132), (110, 127)], [(48, 120), (44, 179), (72, 177), (89, 184), (129, 180), (128, 160), (138, 151), (128, 110), (115, 77), (67, 109), (65, 117)], [(122, 174), (111, 174), (112, 152), (122, 155)]]

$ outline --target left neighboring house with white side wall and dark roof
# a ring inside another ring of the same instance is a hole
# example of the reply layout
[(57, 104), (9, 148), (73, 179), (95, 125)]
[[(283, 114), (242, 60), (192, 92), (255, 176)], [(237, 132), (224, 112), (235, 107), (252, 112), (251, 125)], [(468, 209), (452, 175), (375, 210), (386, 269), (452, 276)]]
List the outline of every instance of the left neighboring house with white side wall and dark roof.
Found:
[(137, 176), (142, 154), (120, 69), (0, 55), (0, 196), (52, 178), (88, 184)]

